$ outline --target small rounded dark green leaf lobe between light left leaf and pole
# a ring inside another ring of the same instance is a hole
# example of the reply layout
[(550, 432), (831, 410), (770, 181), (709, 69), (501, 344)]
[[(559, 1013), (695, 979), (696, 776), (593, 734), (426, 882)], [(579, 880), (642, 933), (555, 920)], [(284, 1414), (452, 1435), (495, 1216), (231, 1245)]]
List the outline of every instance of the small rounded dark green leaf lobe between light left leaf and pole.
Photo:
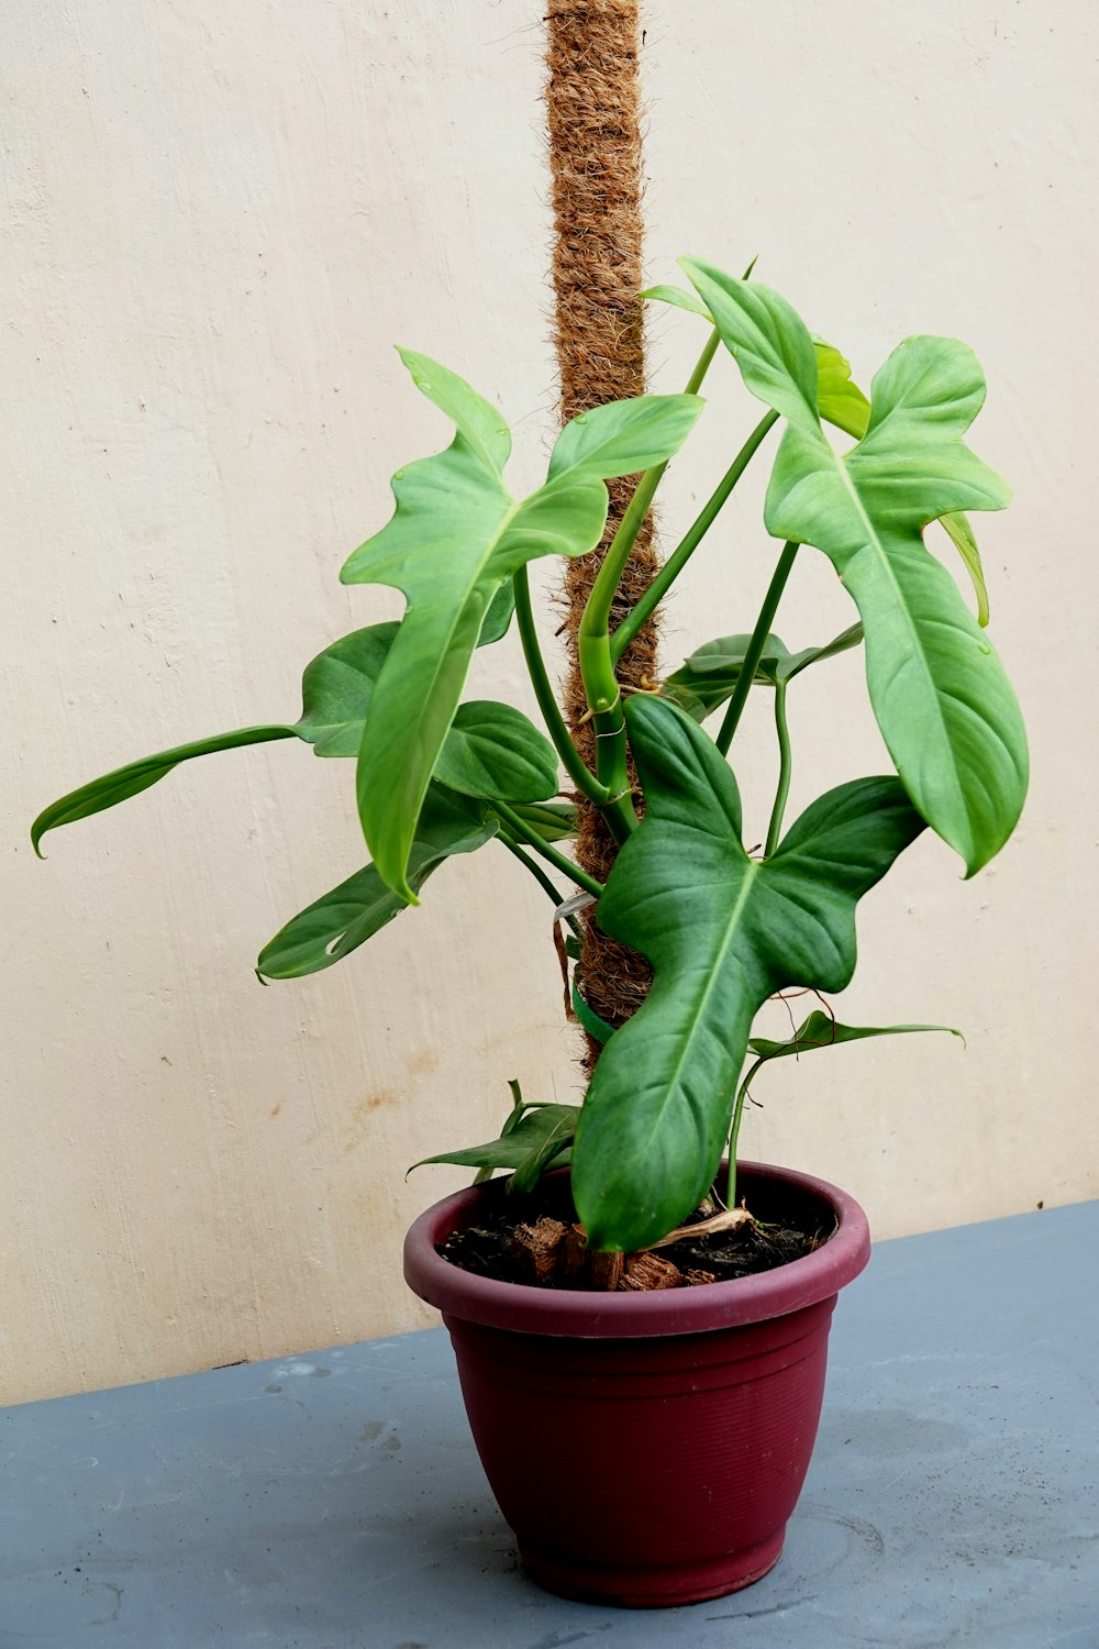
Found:
[(557, 793), (557, 752), (511, 704), (461, 704), (435, 763), (435, 777), (466, 796), (545, 801)]

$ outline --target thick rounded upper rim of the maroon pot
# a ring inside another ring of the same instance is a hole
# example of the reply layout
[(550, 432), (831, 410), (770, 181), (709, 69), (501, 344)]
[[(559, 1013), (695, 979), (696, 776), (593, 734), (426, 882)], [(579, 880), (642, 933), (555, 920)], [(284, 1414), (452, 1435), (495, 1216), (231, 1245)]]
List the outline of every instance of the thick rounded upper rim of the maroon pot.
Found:
[(519, 1334), (554, 1334), (580, 1339), (651, 1339), (666, 1334), (704, 1334), (746, 1327), (788, 1316), (832, 1298), (870, 1258), (867, 1215), (845, 1191), (816, 1174), (771, 1163), (738, 1163), (737, 1181), (778, 1181), (832, 1209), (835, 1230), (814, 1253), (789, 1260), (773, 1271), (738, 1276), (700, 1288), (651, 1293), (588, 1293), (587, 1290), (532, 1288), (473, 1276), (443, 1260), (435, 1243), (461, 1224), (483, 1196), (479, 1186), (456, 1191), (427, 1209), (409, 1229), (404, 1275), (409, 1288), (445, 1316)]

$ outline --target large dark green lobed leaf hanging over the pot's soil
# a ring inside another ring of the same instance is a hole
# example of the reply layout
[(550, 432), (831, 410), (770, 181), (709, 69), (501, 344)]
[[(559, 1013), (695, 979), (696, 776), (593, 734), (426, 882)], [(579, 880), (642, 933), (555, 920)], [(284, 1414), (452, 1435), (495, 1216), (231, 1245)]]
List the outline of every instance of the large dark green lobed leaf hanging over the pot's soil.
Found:
[(573, 1194), (595, 1248), (643, 1248), (709, 1189), (756, 1009), (789, 986), (842, 989), (855, 905), (924, 828), (895, 778), (860, 778), (750, 859), (737, 782), (666, 699), (631, 698), (646, 816), (596, 907), (639, 950), (652, 988), (600, 1055), (573, 1151)]

